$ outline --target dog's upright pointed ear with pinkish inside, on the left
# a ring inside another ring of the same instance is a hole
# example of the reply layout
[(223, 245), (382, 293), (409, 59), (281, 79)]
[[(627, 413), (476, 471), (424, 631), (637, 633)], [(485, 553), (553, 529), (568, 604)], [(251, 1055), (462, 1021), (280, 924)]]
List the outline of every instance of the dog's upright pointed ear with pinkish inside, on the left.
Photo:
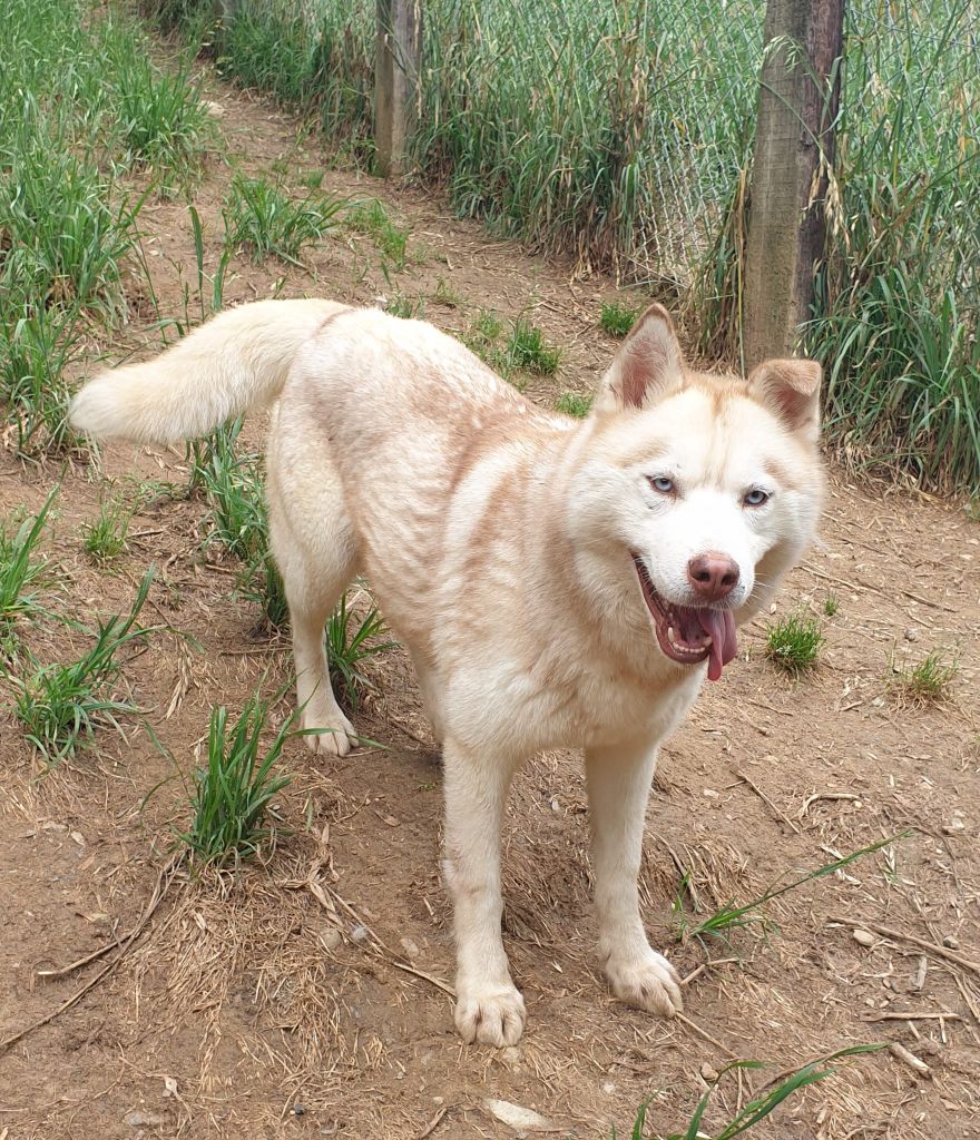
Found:
[(637, 320), (602, 377), (596, 407), (601, 412), (643, 408), (683, 380), (683, 357), (670, 314), (651, 304)]

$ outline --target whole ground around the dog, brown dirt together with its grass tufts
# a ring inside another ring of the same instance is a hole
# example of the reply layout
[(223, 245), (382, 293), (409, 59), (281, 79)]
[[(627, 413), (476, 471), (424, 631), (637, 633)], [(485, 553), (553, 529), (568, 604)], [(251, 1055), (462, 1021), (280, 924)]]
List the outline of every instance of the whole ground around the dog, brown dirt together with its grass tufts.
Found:
[(581, 415), (642, 299), (334, 169), (115, 11), (9, 8), (0, 1137), (607, 1138), (641, 1105), (635, 1135), (694, 1137), (716, 1084), (719, 1138), (787, 1080), (752, 1135), (980, 1135), (977, 522), (839, 471), (823, 545), (665, 748), (641, 889), (683, 1019), (609, 997), (580, 759), (527, 768), (503, 871), (529, 1029), (463, 1047), (438, 756), (370, 583), (329, 630), (366, 740), (325, 762), (281, 734), (262, 423), (92, 455), (65, 399), (217, 304), (318, 294), (424, 316)]

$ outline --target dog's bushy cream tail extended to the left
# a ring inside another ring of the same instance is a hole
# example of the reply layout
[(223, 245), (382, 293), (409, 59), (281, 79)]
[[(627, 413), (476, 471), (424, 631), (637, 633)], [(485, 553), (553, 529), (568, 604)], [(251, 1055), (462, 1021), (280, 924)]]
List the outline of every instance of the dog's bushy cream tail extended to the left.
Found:
[(333, 301), (257, 301), (229, 309), (143, 364), (104, 372), (72, 400), (72, 426), (96, 439), (173, 443), (276, 399)]

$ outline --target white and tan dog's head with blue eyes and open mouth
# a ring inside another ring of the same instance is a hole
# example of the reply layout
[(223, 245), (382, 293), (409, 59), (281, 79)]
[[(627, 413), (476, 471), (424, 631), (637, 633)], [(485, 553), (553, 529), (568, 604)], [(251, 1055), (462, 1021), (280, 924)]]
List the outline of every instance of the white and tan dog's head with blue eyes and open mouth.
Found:
[(712, 679), (813, 538), (819, 389), (812, 360), (747, 380), (688, 368), (656, 304), (602, 380), (569, 488), (573, 542), (607, 604), (642, 608), (663, 653), (707, 660)]

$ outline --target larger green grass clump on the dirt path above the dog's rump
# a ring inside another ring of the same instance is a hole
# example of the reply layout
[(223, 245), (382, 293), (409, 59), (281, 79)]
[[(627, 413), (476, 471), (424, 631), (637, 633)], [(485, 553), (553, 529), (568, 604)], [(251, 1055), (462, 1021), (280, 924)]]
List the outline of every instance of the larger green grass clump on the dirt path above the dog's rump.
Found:
[(342, 198), (313, 192), (293, 198), (265, 178), (235, 174), (221, 210), (226, 245), (248, 250), (257, 264), (275, 255), (302, 268), (299, 254), (337, 227), (345, 206)]

